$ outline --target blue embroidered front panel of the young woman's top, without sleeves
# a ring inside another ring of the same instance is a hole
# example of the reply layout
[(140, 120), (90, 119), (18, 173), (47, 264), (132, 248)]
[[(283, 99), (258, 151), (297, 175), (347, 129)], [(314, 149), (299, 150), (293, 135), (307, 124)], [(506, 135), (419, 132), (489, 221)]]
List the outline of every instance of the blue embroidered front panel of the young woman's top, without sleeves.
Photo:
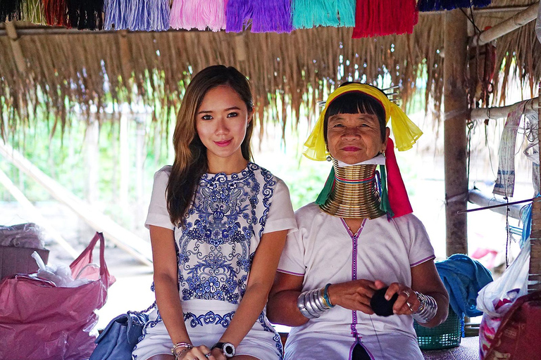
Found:
[(273, 174), (251, 162), (239, 174), (201, 176), (184, 227), (177, 229), (182, 300), (239, 304), (255, 254), (250, 245), (256, 231), (263, 234), (275, 186)]

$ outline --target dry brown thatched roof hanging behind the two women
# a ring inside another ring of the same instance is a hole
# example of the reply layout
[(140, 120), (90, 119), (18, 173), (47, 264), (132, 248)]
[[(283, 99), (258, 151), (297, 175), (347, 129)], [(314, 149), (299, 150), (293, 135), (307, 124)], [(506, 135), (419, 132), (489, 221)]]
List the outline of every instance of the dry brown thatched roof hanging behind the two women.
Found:
[[(528, 5), (530, 0), (494, 0), (492, 6)], [(483, 29), (513, 13), (478, 12)], [(111, 103), (144, 103), (165, 124), (174, 114), (191, 75), (222, 63), (249, 79), (259, 121), (299, 121), (316, 113), (316, 101), (352, 75), (374, 82), (388, 74), (400, 86), (403, 103), (424, 91), (436, 113), (442, 101), (444, 14), (421, 13), (411, 35), (351, 39), (351, 28), (320, 27), (291, 34), (225, 32), (66, 32), (0, 37), (0, 121), (2, 137), (32, 126), (35, 114), (51, 131), (75, 115), (107, 121)], [(541, 44), (535, 22), (498, 39), (494, 103), (504, 100), (509, 79), (528, 84), (541, 77)], [(15, 27), (28, 27), (15, 23)], [(0, 30), (1, 30), (0, 25)], [(18, 46), (13, 46), (13, 43)], [(18, 50), (20, 53), (18, 55)], [(446, 49), (446, 51), (452, 51)], [(23, 61), (20, 60), (22, 53)], [(17, 64), (19, 60), (19, 66)], [(418, 84), (425, 89), (417, 89)], [(533, 87), (533, 86), (532, 86)], [(528, 94), (526, 94), (528, 95)], [(287, 109), (291, 108), (292, 118)], [(96, 111), (98, 110), (98, 111)], [(261, 127), (263, 129), (263, 127)]]

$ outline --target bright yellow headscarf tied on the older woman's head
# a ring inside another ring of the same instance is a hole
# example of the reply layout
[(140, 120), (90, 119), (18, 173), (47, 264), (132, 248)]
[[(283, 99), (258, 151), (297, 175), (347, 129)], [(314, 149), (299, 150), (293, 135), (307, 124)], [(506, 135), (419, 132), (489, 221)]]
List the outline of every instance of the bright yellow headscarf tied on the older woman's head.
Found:
[(413, 124), (409, 120), (408, 115), (398, 107), (397, 104), (392, 103), (383, 92), (378, 88), (367, 85), (367, 84), (347, 84), (340, 86), (335, 91), (332, 91), (327, 102), (325, 103), (325, 108), (321, 111), (319, 115), (318, 122), (313, 128), (312, 133), (304, 143), (304, 156), (311, 160), (323, 161), (326, 160), (327, 155), (327, 146), (325, 146), (325, 139), (323, 138), (323, 122), (325, 122), (325, 113), (329, 108), (330, 103), (337, 98), (338, 96), (345, 94), (351, 91), (359, 91), (363, 94), (375, 98), (377, 101), (383, 105), (385, 110), (385, 124), (389, 123), (389, 120), (392, 119), (392, 133), (394, 135), (394, 143), (397, 146), (399, 151), (409, 150), (413, 144), (423, 135), (423, 131), (417, 127), (416, 124)]

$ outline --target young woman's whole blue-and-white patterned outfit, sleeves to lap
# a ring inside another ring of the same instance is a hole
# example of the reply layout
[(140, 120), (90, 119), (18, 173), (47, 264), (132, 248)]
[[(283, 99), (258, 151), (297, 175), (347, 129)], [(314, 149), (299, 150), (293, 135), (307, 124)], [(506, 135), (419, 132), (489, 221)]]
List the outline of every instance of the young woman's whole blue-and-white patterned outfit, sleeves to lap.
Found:
[[(154, 175), (145, 226), (175, 231), (179, 295), (189, 338), (195, 346), (211, 347), (242, 300), (263, 233), (297, 229), (290, 193), (282, 180), (253, 162), (237, 174), (204, 174), (184, 227), (176, 228), (167, 211), (169, 174), (170, 167), (163, 167)], [(170, 354), (172, 345), (159, 310), (154, 309), (132, 356), (146, 360)], [(265, 309), (237, 354), (282, 359), (280, 336)]]

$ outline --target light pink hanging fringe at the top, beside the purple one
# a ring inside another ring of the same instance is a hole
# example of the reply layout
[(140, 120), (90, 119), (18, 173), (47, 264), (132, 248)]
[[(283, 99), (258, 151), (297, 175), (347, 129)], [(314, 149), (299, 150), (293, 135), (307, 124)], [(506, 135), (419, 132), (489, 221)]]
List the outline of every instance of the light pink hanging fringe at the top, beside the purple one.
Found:
[(225, 29), (225, 0), (174, 0), (170, 13), (173, 29)]

